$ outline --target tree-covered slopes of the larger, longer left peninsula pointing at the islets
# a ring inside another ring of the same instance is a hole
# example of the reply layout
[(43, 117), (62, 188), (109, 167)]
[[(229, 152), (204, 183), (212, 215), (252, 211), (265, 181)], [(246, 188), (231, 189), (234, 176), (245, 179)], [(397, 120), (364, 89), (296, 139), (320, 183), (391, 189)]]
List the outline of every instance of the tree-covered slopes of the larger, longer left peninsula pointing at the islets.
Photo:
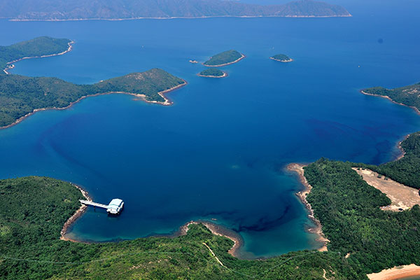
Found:
[(64, 108), (80, 97), (93, 94), (143, 94), (149, 102), (165, 102), (159, 92), (185, 83), (162, 69), (130, 73), (94, 85), (76, 85), (59, 78), (1, 75), (0, 127), (10, 125), (36, 109)]

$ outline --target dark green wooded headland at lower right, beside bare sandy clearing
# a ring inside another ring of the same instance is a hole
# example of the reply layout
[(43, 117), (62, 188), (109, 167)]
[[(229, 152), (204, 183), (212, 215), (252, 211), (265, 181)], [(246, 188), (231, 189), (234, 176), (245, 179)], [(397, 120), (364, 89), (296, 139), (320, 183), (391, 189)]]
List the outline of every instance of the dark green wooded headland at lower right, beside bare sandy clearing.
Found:
[(350, 253), (349, 263), (358, 274), (420, 265), (420, 207), (382, 211), (379, 207), (391, 200), (351, 167), (349, 162), (321, 159), (304, 169), (312, 186), (307, 200), (330, 239), (328, 250)]

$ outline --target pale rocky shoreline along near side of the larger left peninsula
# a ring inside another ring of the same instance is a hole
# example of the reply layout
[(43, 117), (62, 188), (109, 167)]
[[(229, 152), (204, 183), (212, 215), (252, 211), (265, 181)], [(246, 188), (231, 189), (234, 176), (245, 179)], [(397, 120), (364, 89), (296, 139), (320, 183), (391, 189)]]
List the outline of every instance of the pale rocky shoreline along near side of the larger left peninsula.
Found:
[(83, 97), (80, 97), (79, 99), (77, 99), (74, 102), (71, 102), (69, 105), (65, 106), (65, 107), (61, 107), (61, 108), (57, 108), (57, 107), (49, 107), (49, 108), (40, 108), (40, 109), (34, 109), (34, 111), (32, 111), (31, 113), (27, 113), (25, 116), (22, 116), (20, 118), (18, 118), (18, 120), (15, 120), (14, 123), (10, 123), (10, 125), (5, 125), (3, 127), (0, 127), (0, 130), (6, 130), (9, 127), (13, 127), (14, 125), (18, 125), (19, 123), (21, 123), (23, 120), (25, 120), (26, 118), (34, 115), (34, 113), (38, 112), (38, 111), (47, 111), (47, 110), (66, 110), (69, 109), (71, 106), (73, 106), (74, 104), (77, 104), (78, 102), (82, 101), (83, 99), (87, 98), (87, 97), (97, 97), (97, 96), (101, 96), (101, 95), (107, 95), (107, 94), (127, 94), (127, 95), (132, 95), (134, 97), (137, 97), (139, 99), (142, 99), (144, 102), (146, 103), (153, 103), (153, 104), (160, 104), (163, 106), (169, 106), (174, 104), (174, 102), (171, 102), (166, 96), (165, 94), (167, 94), (168, 92), (172, 92), (174, 90), (178, 90), (179, 88), (183, 87), (184, 85), (188, 85), (186, 80), (183, 80), (184, 83), (181, 83), (180, 85), (176, 85), (175, 87), (171, 87), (167, 90), (162, 90), (161, 92), (158, 92), (158, 94), (160, 95), (160, 97), (162, 97), (163, 99), (165, 99), (165, 102), (159, 102), (159, 101), (155, 101), (155, 100), (147, 100), (146, 99), (146, 95), (144, 94), (135, 94), (135, 93), (130, 93), (130, 92), (102, 92), (102, 93), (97, 93), (97, 94), (90, 94), (90, 95), (85, 95)]

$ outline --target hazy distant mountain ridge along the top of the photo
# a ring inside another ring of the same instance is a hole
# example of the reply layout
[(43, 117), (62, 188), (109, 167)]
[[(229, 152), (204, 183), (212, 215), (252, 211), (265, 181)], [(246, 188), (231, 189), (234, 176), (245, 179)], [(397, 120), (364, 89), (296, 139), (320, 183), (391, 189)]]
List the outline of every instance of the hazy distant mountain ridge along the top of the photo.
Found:
[(206, 17), (348, 17), (342, 6), (299, 0), (262, 6), (221, 0), (0, 0), (10, 20), (118, 20)]

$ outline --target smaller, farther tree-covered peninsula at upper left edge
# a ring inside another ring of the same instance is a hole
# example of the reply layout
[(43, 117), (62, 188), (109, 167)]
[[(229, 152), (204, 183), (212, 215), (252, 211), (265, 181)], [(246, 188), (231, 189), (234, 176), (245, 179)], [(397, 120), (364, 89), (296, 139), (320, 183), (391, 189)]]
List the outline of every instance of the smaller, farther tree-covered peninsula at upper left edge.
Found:
[[(71, 41), (65, 38), (38, 37), (8, 46), (0, 46), (0, 69), (6, 68), (8, 62), (23, 57), (38, 57), (42, 55), (55, 55), (66, 51)], [(4, 74), (3, 71), (1, 71)]]

